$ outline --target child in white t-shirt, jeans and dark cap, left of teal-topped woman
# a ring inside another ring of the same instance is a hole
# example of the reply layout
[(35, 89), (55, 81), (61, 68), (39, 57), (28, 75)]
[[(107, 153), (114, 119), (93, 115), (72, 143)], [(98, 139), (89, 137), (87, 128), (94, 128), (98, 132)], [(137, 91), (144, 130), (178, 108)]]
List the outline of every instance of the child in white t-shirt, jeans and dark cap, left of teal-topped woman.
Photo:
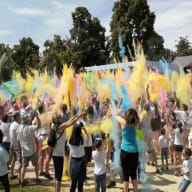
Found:
[(92, 152), (93, 160), (95, 161), (95, 192), (106, 192), (106, 165), (105, 159), (107, 157), (107, 151), (103, 150), (102, 139), (97, 138), (95, 140), (95, 151)]

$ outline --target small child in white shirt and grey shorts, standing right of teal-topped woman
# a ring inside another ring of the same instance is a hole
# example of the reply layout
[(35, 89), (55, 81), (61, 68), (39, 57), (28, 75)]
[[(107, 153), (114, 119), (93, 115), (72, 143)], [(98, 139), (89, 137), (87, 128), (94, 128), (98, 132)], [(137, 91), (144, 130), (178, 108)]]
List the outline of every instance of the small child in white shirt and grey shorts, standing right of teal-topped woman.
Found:
[[(165, 135), (165, 129), (161, 129), (161, 135), (159, 136), (159, 146), (161, 148), (161, 166), (162, 171), (168, 170), (168, 137)], [(164, 163), (165, 160), (165, 163)]]

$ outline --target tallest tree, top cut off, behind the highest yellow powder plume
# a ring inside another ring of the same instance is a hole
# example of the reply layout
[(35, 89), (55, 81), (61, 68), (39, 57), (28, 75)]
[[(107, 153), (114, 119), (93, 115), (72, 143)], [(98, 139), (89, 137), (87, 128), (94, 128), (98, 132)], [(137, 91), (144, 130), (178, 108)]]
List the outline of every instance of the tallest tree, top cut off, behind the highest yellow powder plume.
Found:
[[(113, 57), (120, 59), (118, 38), (122, 36), (125, 54), (131, 59), (134, 55), (133, 41), (143, 43), (144, 51), (147, 41), (153, 33), (155, 14), (150, 11), (147, 0), (120, 0), (115, 2), (111, 26), (111, 50)], [(129, 49), (131, 54), (129, 53)]]

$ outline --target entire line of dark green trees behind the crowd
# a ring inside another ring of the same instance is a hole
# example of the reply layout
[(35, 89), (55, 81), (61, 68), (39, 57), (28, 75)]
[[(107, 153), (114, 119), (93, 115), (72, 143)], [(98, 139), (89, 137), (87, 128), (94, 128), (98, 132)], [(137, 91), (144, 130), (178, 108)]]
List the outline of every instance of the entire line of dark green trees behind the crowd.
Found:
[(163, 37), (154, 30), (155, 14), (147, 0), (117, 1), (112, 12), (109, 36), (97, 17), (87, 8), (77, 7), (72, 12), (70, 36), (54, 35), (52, 40), (44, 42), (41, 54), (31, 37), (22, 38), (13, 48), (1, 43), (0, 81), (10, 80), (13, 70), (19, 71), (23, 78), (27, 72), (32, 74), (32, 69), (61, 76), (63, 64), (72, 65), (78, 72), (85, 66), (111, 63), (112, 58), (121, 62), (122, 52), (134, 60), (133, 42), (142, 44), (148, 60), (157, 61), (164, 56), (170, 61), (177, 55), (192, 54), (187, 37), (179, 39), (176, 52), (164, 48)]

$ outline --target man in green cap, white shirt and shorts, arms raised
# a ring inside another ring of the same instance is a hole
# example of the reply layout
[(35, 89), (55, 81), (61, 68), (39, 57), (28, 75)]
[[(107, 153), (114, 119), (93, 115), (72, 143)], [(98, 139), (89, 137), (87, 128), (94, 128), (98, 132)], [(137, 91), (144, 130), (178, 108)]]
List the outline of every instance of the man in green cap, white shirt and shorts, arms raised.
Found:
[[(37, 125), (31, 125), (32, 119), (36, 117)], [(39, 168), (38, 168), (38, 155), (35, 148), (35, 131), (41, 127), (41, 122), (36, 112), (34, 116), (25, 115), (22, 117), (22, 124), (18, 130), (18, 140), (20, 143), (20, 150), (22, 154), (22, 168), (21, 168), (21, 187), (26, 183), (24, 182), (24, 176), (26, 167), (29, 161), (32, 162), (35, 167), (36, 182), (39, 183)]]

